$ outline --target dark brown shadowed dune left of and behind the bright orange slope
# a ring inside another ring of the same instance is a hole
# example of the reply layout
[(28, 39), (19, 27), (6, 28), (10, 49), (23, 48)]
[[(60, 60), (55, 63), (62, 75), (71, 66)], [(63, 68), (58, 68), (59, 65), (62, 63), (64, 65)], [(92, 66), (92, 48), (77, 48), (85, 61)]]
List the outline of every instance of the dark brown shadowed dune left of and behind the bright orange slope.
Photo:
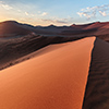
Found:
[[(37, 50), (52, 44), (62, 44), (82, 37), (59, 37), (26, 35), (17, 38), (0, 39), (0, 70), (32, 58)], [(28, 56), (29, 55), (29, 56)]]

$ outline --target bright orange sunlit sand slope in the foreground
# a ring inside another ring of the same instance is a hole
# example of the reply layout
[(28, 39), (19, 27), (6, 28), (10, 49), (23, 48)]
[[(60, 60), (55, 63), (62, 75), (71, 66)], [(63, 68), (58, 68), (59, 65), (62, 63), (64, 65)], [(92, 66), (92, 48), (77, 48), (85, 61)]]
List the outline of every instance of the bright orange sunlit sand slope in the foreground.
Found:
[(0, 108), (82, 109), (94, 40), (66, 43), (1, 71)]

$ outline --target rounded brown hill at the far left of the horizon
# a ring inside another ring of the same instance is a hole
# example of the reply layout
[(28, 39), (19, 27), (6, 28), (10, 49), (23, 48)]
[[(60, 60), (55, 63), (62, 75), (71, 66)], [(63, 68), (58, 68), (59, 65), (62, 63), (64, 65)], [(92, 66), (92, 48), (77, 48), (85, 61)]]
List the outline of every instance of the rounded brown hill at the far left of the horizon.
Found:
[(24, 28), (15, 21), (5, 21), (0, 23), (0, 37), (13, 37), (19, 35), (27, 35), (32, 33), (31, 29)]

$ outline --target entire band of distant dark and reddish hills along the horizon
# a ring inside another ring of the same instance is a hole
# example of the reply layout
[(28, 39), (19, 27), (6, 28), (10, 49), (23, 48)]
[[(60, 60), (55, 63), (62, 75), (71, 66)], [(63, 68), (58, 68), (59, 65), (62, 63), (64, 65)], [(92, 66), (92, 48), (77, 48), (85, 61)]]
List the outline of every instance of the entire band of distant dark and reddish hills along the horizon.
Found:
[(109, 40), (109, 22), (95, 22), (83, 25), (73, 24), (71, 26), (33, 26), (17, 23), (16, 21), (0, 23), (0, 37), (22, 36), (31, 33), (51, 36), (97, 36), (101, 39)]

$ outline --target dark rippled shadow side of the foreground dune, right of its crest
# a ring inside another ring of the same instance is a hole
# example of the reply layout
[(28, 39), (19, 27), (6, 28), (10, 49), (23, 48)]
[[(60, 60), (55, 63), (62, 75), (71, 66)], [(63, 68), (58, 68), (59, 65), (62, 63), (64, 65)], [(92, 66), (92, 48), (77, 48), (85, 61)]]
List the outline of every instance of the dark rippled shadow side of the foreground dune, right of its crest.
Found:
[(109, 44), (96, 39), (83, 109), (109, 109)]

